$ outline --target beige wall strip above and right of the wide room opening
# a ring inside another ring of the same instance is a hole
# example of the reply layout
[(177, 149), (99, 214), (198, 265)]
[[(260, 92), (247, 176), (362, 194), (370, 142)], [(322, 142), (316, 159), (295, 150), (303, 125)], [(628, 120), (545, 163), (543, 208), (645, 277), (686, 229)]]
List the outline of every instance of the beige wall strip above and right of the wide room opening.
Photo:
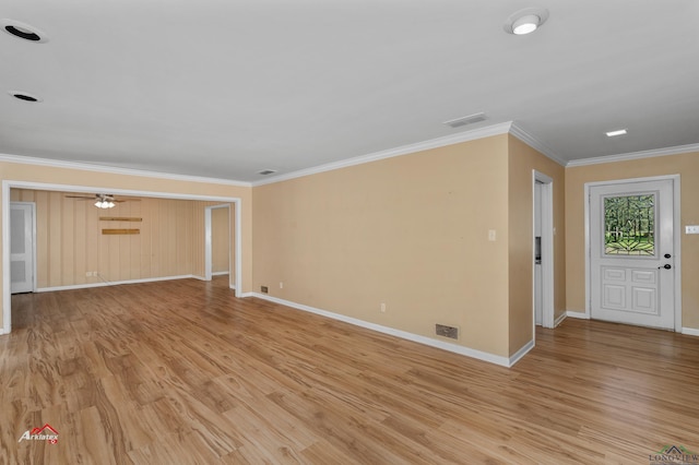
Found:
[[(241, 200), (241, 249), (242, 249), (242, 293), (251, 290), (252, 283), (252, 189), (245, 186), (194, 182), (131, 176), (109, 172), (87, 171), (73, 168), (25, 165), (0, 162), (0, 179), (3, 181), (40, 182), (70, 187), (94, 187), (100, 190), (132, 190), (181, 195), (239, 198)], [(70, 190), (70, 189), (66, 189)]]

